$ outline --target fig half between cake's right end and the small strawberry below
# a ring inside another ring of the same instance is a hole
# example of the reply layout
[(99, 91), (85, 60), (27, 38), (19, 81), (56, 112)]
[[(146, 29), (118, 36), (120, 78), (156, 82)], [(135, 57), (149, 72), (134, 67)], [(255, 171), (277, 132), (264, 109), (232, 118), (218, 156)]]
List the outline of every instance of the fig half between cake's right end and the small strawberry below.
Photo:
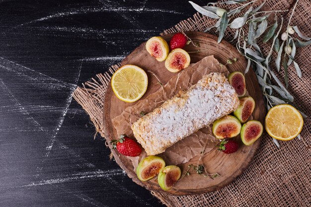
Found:
[(216, 138), (233, 138), (240, 134), (241, 123), (235, 117), (227, 115), (213, 123), (212, 131)]

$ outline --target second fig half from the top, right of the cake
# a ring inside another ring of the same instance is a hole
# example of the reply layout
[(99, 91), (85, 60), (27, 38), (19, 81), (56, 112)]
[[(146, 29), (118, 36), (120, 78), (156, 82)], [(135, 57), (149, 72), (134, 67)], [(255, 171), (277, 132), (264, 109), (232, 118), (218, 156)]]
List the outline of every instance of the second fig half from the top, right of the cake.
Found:
[(245, 123), (249, 116), (253, 113), (254, 109), (255, 101), (252, 97), (248, 96), (240, 98), (240, 104), (233, 114), (241, 123)]

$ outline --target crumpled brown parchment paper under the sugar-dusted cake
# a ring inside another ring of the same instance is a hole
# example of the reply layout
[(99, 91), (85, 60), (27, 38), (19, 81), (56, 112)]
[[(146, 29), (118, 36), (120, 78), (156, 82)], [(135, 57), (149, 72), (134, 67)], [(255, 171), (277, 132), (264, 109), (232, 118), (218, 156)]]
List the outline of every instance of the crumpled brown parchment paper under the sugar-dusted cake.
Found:
[[(203, 75), (211, 72), (221, 72), (224, 73), (225, 76), (228, 76), (229, 74), (228, 69), (226, 67), (222, 68), (214, 56), (208, 56), (195, 64), (190, 64), (188, 68), (172, 77), (165, 85), (163, 85), (163, 88), (159, 88), (158, 91), (150, 94), (146, 99), (139, 101), (134, 106), (126, 108), (121, 115), (112, 120), (112, 124), (117, 131), (118, 137), (125, 134), (128, 137), (135, 139), (131, 130), (131, 125), (141, 117), (140, 112), (152, 112), (154, 109), (161, 106), (163, 101), (170, 99), (180, 90), (186, 90), (196, 84)], [(174, 145), (168, 147), (158, 156), (162, 157), (166, 164), (177, 165), (189, 161), (194, 156), (200, 155), (203, 149), (204, 153), (210, 151), (215, 145), (215, 137), (212, 135), (211, 125), (183, 138)], [(132, 160), (134, 169), (139, 161), (146, 156), (147, 154), (145, 150), (143, 150), (140, 156), (129, 157), (129, 159)]]

